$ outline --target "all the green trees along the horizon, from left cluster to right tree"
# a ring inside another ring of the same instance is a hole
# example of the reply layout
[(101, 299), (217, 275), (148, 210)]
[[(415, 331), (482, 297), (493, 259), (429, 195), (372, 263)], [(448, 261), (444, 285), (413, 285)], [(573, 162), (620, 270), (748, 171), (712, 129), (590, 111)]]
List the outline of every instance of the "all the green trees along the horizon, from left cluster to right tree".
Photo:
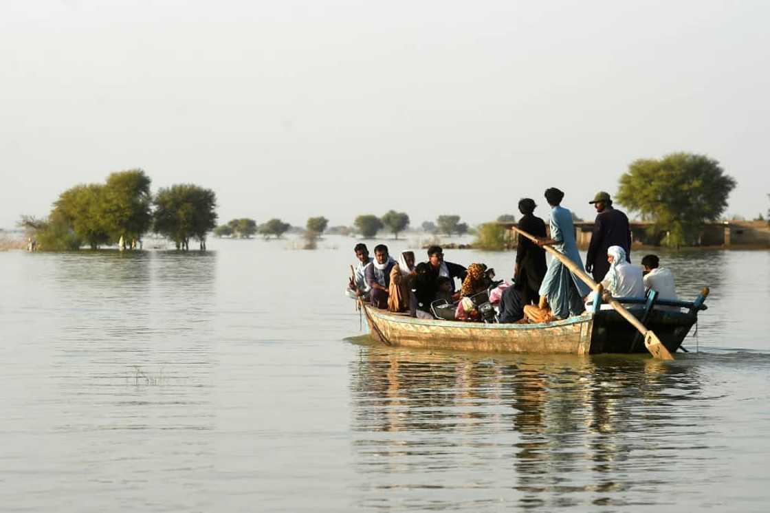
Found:
[[(166, 236), (181, 250), (189, 250), (190, 239), (198, 240), (201, 249), (205, 249), (206, 235), (211, 230), (215, 230), (216, 236), (239, 238), (256, 234), (280, 238), (289, 230), (300, 230), (277, 218), (262, 224), (249, 218), (233, 219), (216, 226), (213, 190), (177, 184), (161, 188), (153, 196), (150, 184), (151, 179), (142, 169), (111, 173), (105, 183), (81, 184), (65, 190), (44, 219), (22, 216), (19, 224), (31, 230), (45, 250), (76, 250), (82, 246), (98, 249), (119, 240), (123, 246), (132, 246), (150, 230)], [(614, 199), (629, 213), (651, 221), (649, 231), (658, 236), (658, 243), (684, 246), (697, 243), (704, 223), (720, 220), (735, 186), (735, 179), (726, 175), (715, 159), (671, 153), (661, 159), (634, 160), (620, 176)], [(568, 208), (569, 204), (565, 206)], [(573, 219), (579, 220), (574, 214)], [(481, 233), (488, 240), (499, 242), (500, 223), (515, 222), (516, 216), (503, 214), (497, 221), (474, 229), (461, 222), (459, 215), (442, 214), (435, 222), (421, 223), (420, 229), (447, 236)], [(389, 210), (383, 216), (357, 216), (352, 226), (329, 227), (328, 223), (323, 216), (311, 217), (304, 233), (313, 240), (322, 233), (371, 238), (380, 230), (388, 230), (397, 239), (409, 229), (410, 216)]]

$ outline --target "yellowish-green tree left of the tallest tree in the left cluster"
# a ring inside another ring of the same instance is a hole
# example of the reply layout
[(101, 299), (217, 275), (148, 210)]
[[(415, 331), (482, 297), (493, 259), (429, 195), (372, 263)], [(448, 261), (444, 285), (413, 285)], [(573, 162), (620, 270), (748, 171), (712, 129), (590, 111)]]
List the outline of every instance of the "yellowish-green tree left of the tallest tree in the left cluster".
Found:
[(65, 190), (54, 203), (53, 217), (68, 224), (77, 238), (92, 250), (110, 240), (104, 216), (104, 196), (105, 186), (92, 183)]

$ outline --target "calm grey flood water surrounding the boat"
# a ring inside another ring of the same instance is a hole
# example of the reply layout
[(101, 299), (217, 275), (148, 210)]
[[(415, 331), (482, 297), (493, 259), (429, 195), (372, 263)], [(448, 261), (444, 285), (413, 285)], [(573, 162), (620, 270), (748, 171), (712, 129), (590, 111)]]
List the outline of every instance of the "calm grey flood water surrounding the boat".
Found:
[(770, 252), (662, 254), (660, 362), (373, 344), (355, 242), (0, 253), (2, 511), (767, 511)]

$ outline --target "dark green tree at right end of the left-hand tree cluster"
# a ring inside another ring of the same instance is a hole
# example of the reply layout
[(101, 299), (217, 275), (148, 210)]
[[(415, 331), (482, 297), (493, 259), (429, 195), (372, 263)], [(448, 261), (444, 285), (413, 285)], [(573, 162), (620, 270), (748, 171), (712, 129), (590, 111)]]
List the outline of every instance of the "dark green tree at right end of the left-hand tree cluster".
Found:
[(206, 250), (206, 234), (216, 226), (216, 194), (192, 184), (159, 189), (155, 198), (153, 230), (189, 250), (189, 240), (199, 240)]

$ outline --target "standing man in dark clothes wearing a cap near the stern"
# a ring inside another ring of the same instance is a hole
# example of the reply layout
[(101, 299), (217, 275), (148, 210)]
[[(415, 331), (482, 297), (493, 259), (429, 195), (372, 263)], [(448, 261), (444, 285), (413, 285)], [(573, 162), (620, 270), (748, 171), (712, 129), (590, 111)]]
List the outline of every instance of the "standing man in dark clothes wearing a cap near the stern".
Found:
[(610, 246), (621, 246), (625, 250), (626, 261), (631, 263), (631, 229), (628, 227), (628, 216), (612, 208), (612, 199), (608, 193), (596, 193), (594, 200), (588, 203), (594, 205), (597, 216), (591, 243), (588, 244), (588, 255), (585, 257), (585, 270), (599, 283), (610, 270), (607, 261)]

